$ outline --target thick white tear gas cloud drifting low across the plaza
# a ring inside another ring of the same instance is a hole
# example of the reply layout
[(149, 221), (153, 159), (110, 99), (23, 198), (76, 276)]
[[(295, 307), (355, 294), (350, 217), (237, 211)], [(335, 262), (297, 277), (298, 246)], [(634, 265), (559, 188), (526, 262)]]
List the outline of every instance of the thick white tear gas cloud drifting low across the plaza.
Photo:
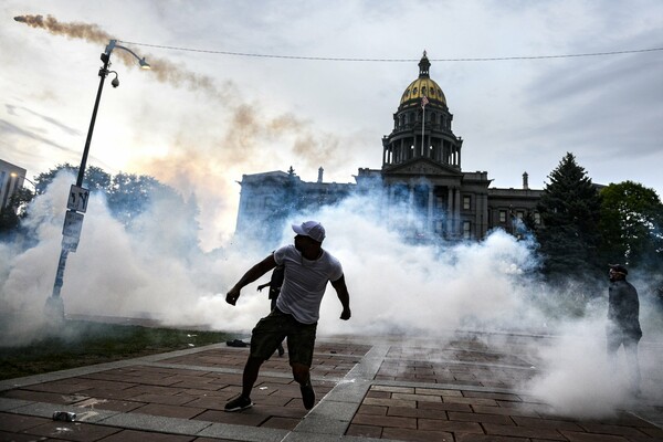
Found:
[[(19, 244), (0, 243), (0, 309), (34, 318), (3, 337), (3, 345), (7, 339), (25, 344), (30, 332), (39, 328), (38, 319), (53, 286), (65, 199), (74, 178), (61, 173), (31, 203), (24, 223), (36, 232), (34, 246), (23, 250)], [(550, 301), (566, 294), (536, 278), (533, 242), (495, 231), (482, 242), (413, 245), (383, 225), (385, 215), (375, 203), (379, 200), (379, 194), (350, 197), (336, 207), (291, 219), (317, 219), (325, 224), (325, 248), (341, 261), (350, 291), (352, 318), (341, 322), (340, 305), (328, 287), (320, 335), (341, 333), (369, 339), (397, 333), (406, 338), (444, 339), (459, 328), (547, 333), (559, 338), (526, 350), (539, 369), (522, 386), (526, 391), (573, 415), (607, 415), (628, 403), (623, 383), (606, 372), (604, 283), (597, 285), (600, 296), (585, 315), (572, 319), (559, 313), (564, 303)], [(170, 204), (155, 201), (125, 230), (109, 214), (104, 198), (93, 196), (78, 250), (70, 254), (64, 275), (66, 313), (149, 317), (170, 326), (248, 335), (267, 314), (270, 302), (255, 287), (269, 275), (246, 286), (235, 307), (225, 303), (224, 294), (273, 244), (233, 238), (223, 248), (202, 253), (196, 240), (187, 240), (191, 238), (187, 233), (191, 213)], [(403, 225), (412, 221), (412, 213), (392, 208), (389, 221)], [(278, 242), (291, 243), (292, 236), (288, 223)], [(638, 281), (634, 284), (639, 286)], [(645, 337), (641, 346), (660, 346), (661, 336), (655, 332), (661, 329), (660, 317), (652, 319), (648, 309), (651, 306), (643, 302)], [(643, 391), (656, 399), (663, 399), (663, 382), (655, 375), (660, 355), (641, 352)]]

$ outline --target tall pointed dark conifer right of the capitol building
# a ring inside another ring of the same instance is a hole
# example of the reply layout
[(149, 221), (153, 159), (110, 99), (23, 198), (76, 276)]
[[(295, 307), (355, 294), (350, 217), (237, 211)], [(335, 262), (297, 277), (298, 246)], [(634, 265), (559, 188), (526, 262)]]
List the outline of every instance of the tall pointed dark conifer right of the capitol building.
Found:
[(596, 186), (570, 152), (548, 178), (537, 207), (544, 273), (552, 280), (597, 274), (602, 263), (598, 253), (601, 201)]

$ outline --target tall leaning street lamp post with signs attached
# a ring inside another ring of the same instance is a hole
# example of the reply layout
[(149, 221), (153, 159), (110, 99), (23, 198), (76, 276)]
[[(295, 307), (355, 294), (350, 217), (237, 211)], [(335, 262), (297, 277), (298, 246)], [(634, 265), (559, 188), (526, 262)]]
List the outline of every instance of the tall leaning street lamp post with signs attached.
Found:
[(83, 177), (85, 175), (85, 166), (87, 165), (87, 155), (90, 154), (90, 144), (92, 141), (92, 134), (94, 131), (94, 124), (96, 122), (99, 101), (102, 99), (102, 92), (104, 90), (104, 81), (109, 73), (114, 73), (115, 78), (112, 82), (113, 87), (117, 87), (119, 85), (117, 73), (108, 70), (110, 66), (110, 54), (115, 49), (122, 49), (134, 55), (138, 60), (138, 64), (141, 69), (150, 69), (149, 64), (145, 61), (145, 57), (141, 59), (128, 48), (120, 46), (117, 44), (117, 40), (110, 40), (106, 46), (106, 50), (102, 53), (101, 60), (104, 62), (104, 65), (99, 69), (98, 74), (99, 87), (97, 90), (94, 108), (92, 110), (92, 119), (90, 120), (90, 128), (87, 129), (87, 138), (85, 139), (85, 148), (83, 149), (83, 157), (81, 158), (81, 167), (78, 168), (76, 185), (72, 186), (70, 190), (70, 197), (66, 206), (67, 211), (65, 213), (64, 225), (62, 228), (62, 249), (60, 251), (55, 282), (53, 283), (53, 292), (46, 299), (46, 314), (56, 320), (64, 319), (64, 303), (60, 296), (60, 292), (64, 283), (64, 269), (66, 266), (66, 259), (70, 252), (74, 253), (78, 246), (81, 229), (83, 227), (83, 213), (85, 213), (87, 210), (90, 190), (83, 188)]

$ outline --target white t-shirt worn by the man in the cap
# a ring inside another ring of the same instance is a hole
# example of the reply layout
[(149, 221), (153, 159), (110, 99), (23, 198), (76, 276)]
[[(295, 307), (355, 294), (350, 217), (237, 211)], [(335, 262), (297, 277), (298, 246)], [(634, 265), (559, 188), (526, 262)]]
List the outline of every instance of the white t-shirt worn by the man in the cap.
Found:
[(285, 265), (276, 307), (293, 315), (299, 323), (317, 323), (327, 282), (343, 276), (340, 262), (325, 250), (320, 257), (308, 261), (294, 245), (276, 250), (274, 261), (278, 265)]

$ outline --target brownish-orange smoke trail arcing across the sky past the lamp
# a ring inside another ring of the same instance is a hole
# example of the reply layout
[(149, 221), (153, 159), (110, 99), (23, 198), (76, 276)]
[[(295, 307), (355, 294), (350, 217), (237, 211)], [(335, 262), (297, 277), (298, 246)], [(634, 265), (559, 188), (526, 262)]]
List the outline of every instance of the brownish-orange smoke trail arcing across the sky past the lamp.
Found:
[[(19, 15), (15, 21), (36, 29), (44, 29), (54, 35), (83, 39), (95, 44), (107, 44), (117, 39), (97, 24), (60, 22), (54, 17)], [(134, 51), (137, 52), (137, 51)], [(235, 180), (251, 168), (260, 170), (284, 170), (290, 166), (296, 169), (317, 170), (324, 166), (333, 173), (343, 167), (346, 158), (335, 155), (337, 146), (351, 146), (354, 138), (340, 141), (334, 134), (314, 130), (311, 122), (293, 114), (265, 115), (269, 109), (257, 103), (246, 103), (240, 88), (232, 81), (219, 84), (214, 78), (191, 72), (166, 59), (145, 54), (150, 63), (150, 76), (162, 84), (199, 92), (203, 99), (213, 102), (214, 112), (183, 116), (176, 124), (168, 141), (169, 154), (158, 158), (134, 158), (131, 168), (157, 177), (185, 194), (194, 192), (201, 198), (201, 217), (206, 242), (219, 245), (214, 231), (229, 230), (236, 208), (238, 191)], [(126, 51), (115, 50), (112, 61), (119, 60), (129, 67), (136, 67), (136, 60)], [(228, 115), (228, 117), (219, 117)], [(196, 119), (187, 122), (187, 118)], [(204, 123), (203, 123), (204, 122)], [(198, 128), (191, 130), (191, 125)], [(141, 137), (141, 136), (139, 136)], [(149, 137), (136, 139), (141, 145)], [(265, 147), (270, 147), (266, 154)], [(274, 148), (278, 147), (278, 148)], [(294, 159), (293, 159), (294, 158)], [(219, 221), (221, 220), (221, 221)], [(209, 233), (208, 233), (209, 232)], [(230, 232), (223, 232), (228, 235)]]

